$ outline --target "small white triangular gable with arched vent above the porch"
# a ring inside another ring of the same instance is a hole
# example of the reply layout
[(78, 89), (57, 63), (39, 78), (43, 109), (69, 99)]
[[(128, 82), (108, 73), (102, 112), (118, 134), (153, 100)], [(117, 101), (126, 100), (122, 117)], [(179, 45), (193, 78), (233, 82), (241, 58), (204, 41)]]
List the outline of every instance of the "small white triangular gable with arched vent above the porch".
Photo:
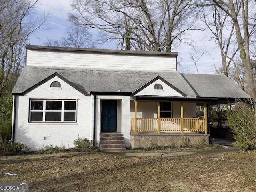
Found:
[[(163, 86), (162, 90), (156, 90), (154, 89), (155, 84), (161, 84)], [(172, 87), (170, 87), (168, 84), (163, 82), (160, 79), (157, 79), (156, 81), (149, 84), (146, 88), (141, 90), (140, 92), (136, 93), (136, 96), (138, 95), (145, 95), (145, 96), (176, 96), (176, 97), (183, 97), (182, 94), (174, 90)]]

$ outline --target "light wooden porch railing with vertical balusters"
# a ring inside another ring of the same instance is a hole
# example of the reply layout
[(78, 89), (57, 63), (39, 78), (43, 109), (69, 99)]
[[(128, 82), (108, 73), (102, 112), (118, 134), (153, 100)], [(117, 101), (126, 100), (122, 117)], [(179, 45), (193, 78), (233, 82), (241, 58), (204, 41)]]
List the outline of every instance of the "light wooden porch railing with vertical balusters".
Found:
[[(204, 132), (205, 119), (161, 118), (160, 131), (191, 131)], [(135, 132), (135, 118), (132, 118), (132, 132)], [(158, 118), (137, 118), (137, 132), (158, 132)]]

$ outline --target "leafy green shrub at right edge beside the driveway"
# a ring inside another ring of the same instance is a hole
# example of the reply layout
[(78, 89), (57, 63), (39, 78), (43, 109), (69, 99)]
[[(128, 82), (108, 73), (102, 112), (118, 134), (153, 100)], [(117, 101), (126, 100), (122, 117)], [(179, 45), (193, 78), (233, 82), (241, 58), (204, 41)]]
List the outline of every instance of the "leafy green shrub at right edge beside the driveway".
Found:
[(236, 139), (236, 146), (244, 150), (256, 149), (256, 108), (243, 106), (240, 110), (230, 112), (229, 125)]

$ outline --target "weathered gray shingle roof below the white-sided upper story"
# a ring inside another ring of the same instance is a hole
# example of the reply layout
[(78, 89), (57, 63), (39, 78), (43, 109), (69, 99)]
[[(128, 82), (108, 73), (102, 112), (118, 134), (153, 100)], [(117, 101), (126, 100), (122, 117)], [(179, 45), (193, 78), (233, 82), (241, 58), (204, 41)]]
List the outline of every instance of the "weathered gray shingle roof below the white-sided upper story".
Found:
[(178, 71), (112, 70), (25, 66), (13, 94), (22, 94), (42, 80), (58, 73), (86, 93), (134, 92), (160, 76), (188, 97), (248, 98), (229, 78), (222, 75), (180, 74)]

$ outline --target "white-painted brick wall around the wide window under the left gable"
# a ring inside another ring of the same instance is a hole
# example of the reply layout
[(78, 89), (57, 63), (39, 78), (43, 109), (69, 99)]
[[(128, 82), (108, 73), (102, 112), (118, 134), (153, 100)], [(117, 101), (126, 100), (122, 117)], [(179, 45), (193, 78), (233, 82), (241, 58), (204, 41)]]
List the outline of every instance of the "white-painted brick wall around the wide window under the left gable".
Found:
[[(51, 89), (50, 84), (53, 81), (60, 82), (62, 88)], [(77, 100), (77, 122), (29, 123), (30, 99)], [(26, 95), (17, 96), (15, 142), (24, 143), (33, 150), (38, 150), (50, 144), (72, 148), (78, 135), (92, 140), (92, 110), (90, 96), (84, 96), (60, 78), (54, 77)], [(47, 137), (46, 140), (45, 137)]]

